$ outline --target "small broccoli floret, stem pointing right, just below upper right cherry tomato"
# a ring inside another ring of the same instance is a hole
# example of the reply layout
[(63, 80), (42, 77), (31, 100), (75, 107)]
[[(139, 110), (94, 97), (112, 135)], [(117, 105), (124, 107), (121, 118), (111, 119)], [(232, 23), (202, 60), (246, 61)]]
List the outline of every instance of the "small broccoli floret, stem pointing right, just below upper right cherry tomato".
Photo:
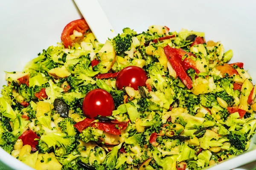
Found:
[(148, 98), (138, 99), (137, 105), (140, 107), (140, 108), (137, 108), (137, 110), (141, 113), (145, 112), (147, 109), (149, 109), (151, 111), (163, 112), (163, 108), (161, 108), (156, 103), (150, 101)]

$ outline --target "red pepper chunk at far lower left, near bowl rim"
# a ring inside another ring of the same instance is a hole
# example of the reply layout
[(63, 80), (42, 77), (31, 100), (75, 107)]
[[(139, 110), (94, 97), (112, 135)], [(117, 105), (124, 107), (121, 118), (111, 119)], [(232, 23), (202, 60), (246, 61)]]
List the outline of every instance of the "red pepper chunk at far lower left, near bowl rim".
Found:
[(26, 130), (25, 132), (23, 132), (22, 135), (19, 136), (19, 139), (22, 140), (23, 145), (30, 145), (32, 147), (32, 151), (37, 150), (36, 145), (38, 145), (38, 141), (35, 139), (40, 138), (32, 130)]

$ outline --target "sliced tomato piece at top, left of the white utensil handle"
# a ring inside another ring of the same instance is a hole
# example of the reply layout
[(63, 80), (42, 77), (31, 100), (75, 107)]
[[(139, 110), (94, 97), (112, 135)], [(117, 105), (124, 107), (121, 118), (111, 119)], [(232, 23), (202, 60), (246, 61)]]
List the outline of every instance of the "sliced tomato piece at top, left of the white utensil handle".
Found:
[(71, 40), (70, 35), (73, 34), (73, 31), (76, 30), (81, 32), (83, 35), (89, 29), (88, 24), (84, 19), (74, 20), (65, 26), (61, 34), (61, 41), (63, 42), (64, 46), (68, 48), (68, 46), (72, 46), (74, 40)]

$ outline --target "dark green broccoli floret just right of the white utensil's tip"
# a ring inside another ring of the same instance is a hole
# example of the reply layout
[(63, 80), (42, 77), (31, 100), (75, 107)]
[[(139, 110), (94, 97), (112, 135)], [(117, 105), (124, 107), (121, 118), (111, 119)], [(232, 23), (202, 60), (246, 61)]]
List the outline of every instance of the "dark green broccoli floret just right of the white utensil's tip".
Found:
[(115, 48), (117, 54), (122, 54), (125, 51), (129, 51), (131, 49), (131, 35), (130, 34), (118, 34), (113, 38), (112, 44)]

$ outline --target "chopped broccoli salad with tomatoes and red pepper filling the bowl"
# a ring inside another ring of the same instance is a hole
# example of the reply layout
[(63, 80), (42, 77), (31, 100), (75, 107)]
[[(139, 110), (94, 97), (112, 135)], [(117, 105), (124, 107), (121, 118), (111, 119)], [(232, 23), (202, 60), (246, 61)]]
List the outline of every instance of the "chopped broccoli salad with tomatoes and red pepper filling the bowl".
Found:
[(6, 73), (0, 146), (36, 170), (200, 170), (246, 151), (256, 88), (203, 32), (124, 28), (105, 44), (84, 19)]

